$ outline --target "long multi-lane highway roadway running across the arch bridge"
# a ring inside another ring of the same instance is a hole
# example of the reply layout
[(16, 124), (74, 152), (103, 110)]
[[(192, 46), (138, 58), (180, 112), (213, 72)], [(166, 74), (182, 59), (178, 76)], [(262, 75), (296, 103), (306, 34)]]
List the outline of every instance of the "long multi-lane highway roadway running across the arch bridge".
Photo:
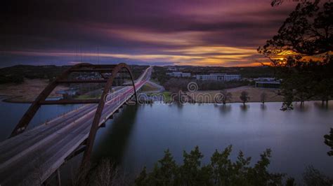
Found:
[[(152, 68), (135, 81), (136, 90), (150, 79)], [(107, 96), (103, 124), (134, 93), (125, 86)], [(89, 136), (98, 104), (86, 104), (0, 143), (0, 185), (40, 185)]]

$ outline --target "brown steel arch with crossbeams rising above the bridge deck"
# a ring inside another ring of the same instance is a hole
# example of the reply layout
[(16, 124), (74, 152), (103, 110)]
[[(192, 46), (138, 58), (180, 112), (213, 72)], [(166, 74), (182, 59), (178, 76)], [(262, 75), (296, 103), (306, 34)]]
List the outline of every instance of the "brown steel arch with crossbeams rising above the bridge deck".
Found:
[[(34, 115), (37, 113), (37, 110), (41, 107), (41, 105), (49, 105), (49, 104), (77, 104), (77, 103), (98, 103), (98, 107), (95, 113), (95, 116), (93, 118), (93, 124), (91, 125), (91, 131), (89, 133), (88, 143), (86, 146), (86, 151), (84, 152), (84, 155), (90, 155), (90, 152), (87, 151), (92, 149), (93, 141), (96, 136), (96, 132), (98, 130), (98, 124), (100, 122), (100, 117), (103, 112), (103, 108), (105, 105), (105, 98), (109, 92), (109, 90), (112, 88), (112, 83), (116, 79), (116, 76), (118, 73), (122, 73), (122, 70), (125, 69), (126, 73), (129, 73), (129, 76), (131, 78), (131, 84), (133, 86), (134, 90), (134, 96), (136, 96), (136, 101), (138, 101), (138, 97), (136, 95), (136, 87), (133, 80), (133, 75), (131, 73), (131, 70), (129, 69), (129, 66), (124, 63), (120, 63), (117, 65), (93, 65), (93, 64), (76, 64), (72, 66), (70, 69), (67, 69), (67, 71), (63, 72), (58, 78), (53, 80), (50, 84), (48, 84), (45, 89), (37, 96), (37, 99), (34, 100), (30, 108), (28, 108), (27, 112), (23, 117), (20, 119), (18, 124), (16, 125), (15, 129), (11, 133), (11, 137), (16, 136), (25, 129), (27, 129), (28, 124), (34, 117)], [(98, 80), (68, 80), (70, 75), (73, 72), (97, 72), (100, 73), (100, 76), (102, 78)], [(105, 73), (111, 73), (110, 77), (105, 77)], [(60, 84), (68, 84), (68, 83), (106, 83), (103, 93), (100, 96), (100, 99), (74, 99), (74, 100), (57, 100), (57, 101), (46, 101), (46, 98), (51, 94), (51, 92)]]

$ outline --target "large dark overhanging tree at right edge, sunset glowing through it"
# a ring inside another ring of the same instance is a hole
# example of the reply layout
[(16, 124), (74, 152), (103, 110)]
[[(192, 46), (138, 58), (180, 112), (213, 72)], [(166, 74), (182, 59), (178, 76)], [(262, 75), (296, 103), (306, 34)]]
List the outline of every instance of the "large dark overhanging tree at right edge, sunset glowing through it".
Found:
[[(272, 6), (282, 2), (273, 0)], [(282, 79), (282, 110), (292, 109), (292, 101), (303, 104), (308, 99), (327, 102), (332, 98), (332, 16), (332, 2), (303, 1), (290, 13), (278, 34), (258, 48)]]

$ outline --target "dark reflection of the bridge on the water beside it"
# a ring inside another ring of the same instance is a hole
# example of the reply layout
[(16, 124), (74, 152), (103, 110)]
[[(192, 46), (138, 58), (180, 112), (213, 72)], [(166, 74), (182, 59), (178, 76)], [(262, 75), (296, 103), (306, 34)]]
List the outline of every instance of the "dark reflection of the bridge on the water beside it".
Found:
[[(94, 160), (108, 157), (116, 164), (122, 161), (131, 129), (136, 120), (137, 110), (138, 106), (126, 106), (112, 123), (108, 123), (107, 127), (98, 130), (96, 147), (93, 149)], [(103, 143), (100, 143), (101, 141)]]

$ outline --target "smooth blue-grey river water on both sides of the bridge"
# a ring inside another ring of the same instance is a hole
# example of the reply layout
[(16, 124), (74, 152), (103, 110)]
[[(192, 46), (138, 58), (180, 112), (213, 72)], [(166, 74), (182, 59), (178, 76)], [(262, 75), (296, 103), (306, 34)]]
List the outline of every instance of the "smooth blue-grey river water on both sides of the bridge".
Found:
[[(0, 140), (9, 136), (29, 104), (0, 103), (2, 118)], [(176, 162), (182, 162), (183, 150), (195, 145), (209, 162), (214, 150), (233, 145), (232, 159), (239, 150), (252, 157), (272, 150), (270, 171), (287, 173), (301, 180), (301, 173), (313, 165), (333, 177), (333, 157), (323, 136), (333, 127), (333, 103), (306, 102), (303, 108), (279, 110), (281, 103), (162, 104), (126, 106), (105, 128), (98, 130), (93, 159), (112, 159), (126, 173), (135, 174), (143, 166), (152, 168), (169, 148)], [(45, 106), (34, 117), (33, 124), (55, 117), (77, 106)], [(67, 165), (68, 166), (68, 165)], [(66, 166), (64, 166), (65, 169)]]

